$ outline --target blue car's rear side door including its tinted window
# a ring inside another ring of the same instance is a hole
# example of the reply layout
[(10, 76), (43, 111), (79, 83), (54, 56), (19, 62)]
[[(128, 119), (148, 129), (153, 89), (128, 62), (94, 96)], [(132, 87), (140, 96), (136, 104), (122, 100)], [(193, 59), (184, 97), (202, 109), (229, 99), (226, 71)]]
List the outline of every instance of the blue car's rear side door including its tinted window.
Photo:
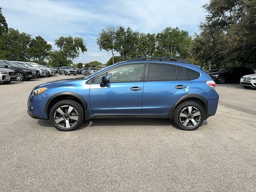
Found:
[(186, 95), (190, 80), (185, 68), (171, 64), (148, 64), (145, 76), (142, 112), (166, 114)]

